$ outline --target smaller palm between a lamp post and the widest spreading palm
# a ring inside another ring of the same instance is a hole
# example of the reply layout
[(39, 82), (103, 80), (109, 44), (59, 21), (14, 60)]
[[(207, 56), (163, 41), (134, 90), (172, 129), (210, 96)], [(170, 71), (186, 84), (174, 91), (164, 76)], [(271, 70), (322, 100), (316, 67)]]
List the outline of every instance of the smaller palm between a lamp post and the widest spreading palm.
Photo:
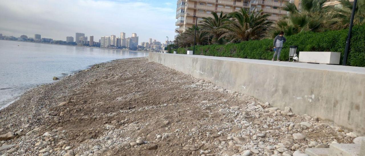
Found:
[(229, 19), (227, 18), (227, 15), (223, 16), (223, 11), (220, 12), (220, 15), (212, 12), (212, 15), (213, 18), (203, 17), (203, 21), (199, 22), (201, 23), (201, 30), (209, 34), (209, 44), (223, 44), (224, 39), (220, 38), (222, 35), (222, 31), (220, 29), (229, 22)]

